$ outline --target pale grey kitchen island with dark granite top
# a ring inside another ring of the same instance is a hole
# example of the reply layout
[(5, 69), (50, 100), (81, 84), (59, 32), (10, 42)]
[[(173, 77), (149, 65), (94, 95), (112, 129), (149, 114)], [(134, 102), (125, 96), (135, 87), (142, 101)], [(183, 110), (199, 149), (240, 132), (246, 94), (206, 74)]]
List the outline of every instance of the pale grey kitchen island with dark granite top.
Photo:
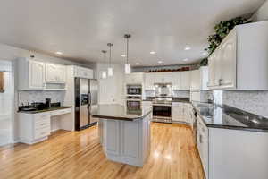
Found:
[(99, 105), (99, 140), (108, 159), (131, 166), (143, 166), (150, 151), (150, 108), (130, 111), (121, 105)]

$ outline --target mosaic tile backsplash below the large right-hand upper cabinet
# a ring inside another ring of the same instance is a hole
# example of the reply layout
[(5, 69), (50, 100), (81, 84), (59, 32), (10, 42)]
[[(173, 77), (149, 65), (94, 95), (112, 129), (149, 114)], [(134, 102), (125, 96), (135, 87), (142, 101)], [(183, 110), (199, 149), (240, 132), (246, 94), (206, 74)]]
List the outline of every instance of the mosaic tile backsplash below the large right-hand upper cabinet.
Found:
[(268, 91), (222, 91), (222, 104), (268, 118)]

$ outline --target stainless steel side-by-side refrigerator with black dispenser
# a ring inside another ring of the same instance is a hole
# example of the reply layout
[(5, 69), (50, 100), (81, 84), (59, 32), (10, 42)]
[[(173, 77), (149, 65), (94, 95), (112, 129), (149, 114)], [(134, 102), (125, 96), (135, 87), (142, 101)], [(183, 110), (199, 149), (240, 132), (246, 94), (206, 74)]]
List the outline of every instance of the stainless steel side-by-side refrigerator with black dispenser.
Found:
[(97, 109), (97, 81), (75, 78), (75, 130), (80, 131), (96, 124), (92, 111)]

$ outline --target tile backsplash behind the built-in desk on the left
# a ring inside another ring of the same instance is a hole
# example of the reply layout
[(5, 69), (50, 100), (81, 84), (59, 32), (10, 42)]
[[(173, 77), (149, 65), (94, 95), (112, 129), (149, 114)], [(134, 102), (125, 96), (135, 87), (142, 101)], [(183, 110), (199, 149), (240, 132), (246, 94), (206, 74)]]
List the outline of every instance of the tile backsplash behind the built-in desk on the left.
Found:
[(51, 98), (51, 102), (63, 103), (65, 91), (19, 91), (18, 102), (27, 104), (32, 102), (45, 102), (46, 98)]

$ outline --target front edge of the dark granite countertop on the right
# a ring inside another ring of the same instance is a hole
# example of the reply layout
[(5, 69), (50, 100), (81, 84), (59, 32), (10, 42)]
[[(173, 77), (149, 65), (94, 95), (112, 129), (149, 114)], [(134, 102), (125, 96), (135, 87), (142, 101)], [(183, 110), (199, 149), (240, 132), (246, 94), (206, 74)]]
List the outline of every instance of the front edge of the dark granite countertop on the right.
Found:
[[(232, 126), (232, 125), (222, 125), (222, 124), (206, 124), (203, 115), (198, 113), (196, 107), (191, 103), (192, 107), (195, 108), (197, 111), (197, 115), (200, 116), (203, 123), (209, 128), (219, 128), (219, 129), (230, 129), (230, 130), (240, 130), (240, 131), (247, 131), (247, 132), (268, 132), (268, 129), (260, 129), (260, 128), (251, 128), (251, 127), (242, 127), (242, 126)], [(234, 119), (236, 120), (236, 119)]]

